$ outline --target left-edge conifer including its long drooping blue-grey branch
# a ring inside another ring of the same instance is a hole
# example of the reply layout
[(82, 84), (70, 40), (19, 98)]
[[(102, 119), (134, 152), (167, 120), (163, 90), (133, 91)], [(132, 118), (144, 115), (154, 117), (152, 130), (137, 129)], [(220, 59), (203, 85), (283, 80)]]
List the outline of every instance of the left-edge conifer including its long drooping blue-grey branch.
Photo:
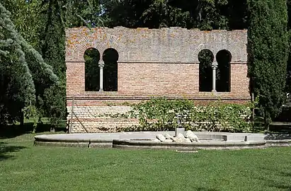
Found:
[(10, 16), (0, 4), (0, 122), (4, 124), (21, 120), (23, 109), (35, 104), (35, 82), (50, 86), (58, 80), (51, 66), (17, 32)]

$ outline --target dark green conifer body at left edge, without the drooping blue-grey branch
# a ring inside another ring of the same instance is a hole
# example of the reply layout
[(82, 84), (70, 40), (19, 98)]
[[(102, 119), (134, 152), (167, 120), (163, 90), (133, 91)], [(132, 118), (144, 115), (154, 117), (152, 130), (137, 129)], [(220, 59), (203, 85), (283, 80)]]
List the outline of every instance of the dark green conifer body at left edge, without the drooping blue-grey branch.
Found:
[(35, 100), (35, 87), (21, 42), (10, 19), (0, 4), (0, 123), (13, 122), (21, 110)]

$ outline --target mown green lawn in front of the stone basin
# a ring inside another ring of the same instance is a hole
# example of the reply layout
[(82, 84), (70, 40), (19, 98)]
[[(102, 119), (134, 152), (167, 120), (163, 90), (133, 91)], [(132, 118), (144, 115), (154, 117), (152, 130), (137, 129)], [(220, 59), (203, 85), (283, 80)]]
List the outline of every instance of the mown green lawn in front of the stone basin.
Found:
[(291, 190), (291, 148), (123, 151), (0, 139), (0, 190)]

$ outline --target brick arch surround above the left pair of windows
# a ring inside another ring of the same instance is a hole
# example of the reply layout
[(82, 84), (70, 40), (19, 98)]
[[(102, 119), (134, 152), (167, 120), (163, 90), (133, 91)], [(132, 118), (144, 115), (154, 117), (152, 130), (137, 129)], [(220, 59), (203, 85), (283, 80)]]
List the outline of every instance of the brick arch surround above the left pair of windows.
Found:
[(96, 48), (101, 55), (106, 49), (113, 48), (118, 51), (119, 62), (127, 60), (127, 49), (118, 37), (106, 33), (92, 33), (75, 44), (73, 50), (74, 61), (85, 62), (84, 52), (92, 47)]

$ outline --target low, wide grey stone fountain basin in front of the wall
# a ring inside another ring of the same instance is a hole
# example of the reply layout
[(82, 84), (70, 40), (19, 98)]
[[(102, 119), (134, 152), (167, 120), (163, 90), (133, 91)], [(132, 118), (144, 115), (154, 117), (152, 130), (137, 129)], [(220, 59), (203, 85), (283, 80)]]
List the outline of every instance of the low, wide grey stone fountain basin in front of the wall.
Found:
[(268, 141), (265, 140), (265, 134), (224, 132), (194, 132), (200, 139), (200, 142), (178, 143), (154, 141), (156, 134), (166, 133), (171, 136), (175, 135), (175, 132), (42, 134), (35, 136), (35, 145), (195, 151), (197, 149), (265, 148), (266, 146), (280, 145), (280, 142), (284, 142), (284, 146), (291, 144), (290, 140), (272, 140), (273, 142), (268, 144)]

